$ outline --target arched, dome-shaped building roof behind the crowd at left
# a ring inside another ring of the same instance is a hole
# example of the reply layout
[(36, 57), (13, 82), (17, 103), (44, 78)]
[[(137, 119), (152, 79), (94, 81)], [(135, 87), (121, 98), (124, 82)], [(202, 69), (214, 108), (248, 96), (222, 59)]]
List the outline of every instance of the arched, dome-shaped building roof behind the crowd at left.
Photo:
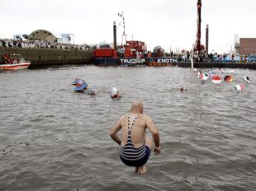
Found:
[(35, 30), (28, 35), (28, 40), (47, 40), (54, 43), (57, 38), (48, 30)]

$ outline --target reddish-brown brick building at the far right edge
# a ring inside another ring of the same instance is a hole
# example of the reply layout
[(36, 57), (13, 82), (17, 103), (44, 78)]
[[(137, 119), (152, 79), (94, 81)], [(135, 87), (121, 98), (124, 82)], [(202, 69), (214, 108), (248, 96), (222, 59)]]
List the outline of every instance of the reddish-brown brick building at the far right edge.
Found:
[(239, 54), (256, 54), (256, 38), (240, 38)]

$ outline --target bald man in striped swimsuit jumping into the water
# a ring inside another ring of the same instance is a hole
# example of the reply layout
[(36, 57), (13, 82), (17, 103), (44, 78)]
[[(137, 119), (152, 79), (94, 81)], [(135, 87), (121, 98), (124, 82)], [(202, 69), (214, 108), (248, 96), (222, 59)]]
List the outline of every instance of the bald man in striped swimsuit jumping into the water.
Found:
[[(146, 137), (146, 129), (152, 134)], [(116, 133), (121, 130), (122, 138)], [(145, 163), (149, 159), (152, 143), (154, 141), (154, 154), (161, 153), (159, 130), (154, 126), (153, 120), (143, 114), (143, 105), (139, 100), (132, 103), (131, 112), (121, 116), (109, 132), (111, 138), (121, 146), (120, 159), (128, 166), (135, 167), (139, 175), (146, 172)]]

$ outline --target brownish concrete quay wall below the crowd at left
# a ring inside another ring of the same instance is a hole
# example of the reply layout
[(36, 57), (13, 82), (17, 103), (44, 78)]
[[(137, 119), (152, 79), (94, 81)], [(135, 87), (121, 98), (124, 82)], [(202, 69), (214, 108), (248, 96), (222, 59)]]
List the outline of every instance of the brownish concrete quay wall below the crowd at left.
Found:
[(18, 49), (0, 47), (0, 55), (21, 54), (31, 61), (30, 68), (64, 64), (90, 64), (93, 51), (69, 49)]

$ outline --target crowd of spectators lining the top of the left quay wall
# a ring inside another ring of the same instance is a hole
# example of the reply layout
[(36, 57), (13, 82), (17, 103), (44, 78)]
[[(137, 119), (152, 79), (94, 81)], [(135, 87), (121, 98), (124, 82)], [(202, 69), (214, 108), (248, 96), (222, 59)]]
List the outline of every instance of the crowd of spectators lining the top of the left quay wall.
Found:
[(47, 40), (12, 40), (1, 39), (0, 47), (21, 48), (21, 49), (71, 49), (91, 51), (96, 49), (96, 45), (88, 44), (63, 44), (51, 43)]

